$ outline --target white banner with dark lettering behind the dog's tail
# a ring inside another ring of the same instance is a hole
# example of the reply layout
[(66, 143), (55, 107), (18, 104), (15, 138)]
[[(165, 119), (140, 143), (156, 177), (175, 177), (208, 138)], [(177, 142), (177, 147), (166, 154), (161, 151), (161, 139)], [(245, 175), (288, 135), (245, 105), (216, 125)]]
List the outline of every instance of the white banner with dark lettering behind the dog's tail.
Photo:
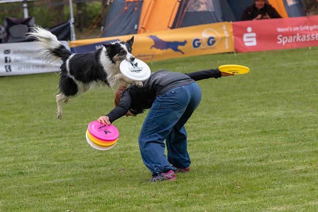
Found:
[[(68, 41), (60, 41), (70, 50)], [(38, 74), (59, 71), (61, 63), (54, 67), (43, 61), (35, 42), (0, 44), (0, 76)]]

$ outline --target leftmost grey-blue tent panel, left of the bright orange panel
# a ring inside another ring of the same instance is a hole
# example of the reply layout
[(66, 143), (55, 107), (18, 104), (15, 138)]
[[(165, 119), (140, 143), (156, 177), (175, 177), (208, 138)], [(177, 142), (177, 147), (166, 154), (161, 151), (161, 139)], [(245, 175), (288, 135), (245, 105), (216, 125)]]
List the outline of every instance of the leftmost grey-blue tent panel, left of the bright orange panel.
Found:
[(114, 0), (102, 37), (137, 34), (143, 1)]

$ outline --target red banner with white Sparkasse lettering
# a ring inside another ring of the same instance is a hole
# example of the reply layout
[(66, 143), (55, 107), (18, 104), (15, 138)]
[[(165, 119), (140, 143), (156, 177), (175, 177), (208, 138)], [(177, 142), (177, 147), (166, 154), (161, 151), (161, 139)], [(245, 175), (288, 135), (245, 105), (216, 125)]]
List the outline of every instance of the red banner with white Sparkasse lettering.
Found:
[(318, 46), (318, 15), (233, 22), (237, 52)]

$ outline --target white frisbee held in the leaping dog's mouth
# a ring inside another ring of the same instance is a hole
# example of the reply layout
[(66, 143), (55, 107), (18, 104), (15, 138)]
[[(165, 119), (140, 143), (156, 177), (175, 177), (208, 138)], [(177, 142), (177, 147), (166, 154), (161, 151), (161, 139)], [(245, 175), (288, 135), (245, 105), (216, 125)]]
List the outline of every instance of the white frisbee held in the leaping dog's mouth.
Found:
[(135, 59), (134, 62), (123, 60), (119, 66), (120, 72), (130, 80), (141, 82), (150, 77), (149, 66), (141, 60)]

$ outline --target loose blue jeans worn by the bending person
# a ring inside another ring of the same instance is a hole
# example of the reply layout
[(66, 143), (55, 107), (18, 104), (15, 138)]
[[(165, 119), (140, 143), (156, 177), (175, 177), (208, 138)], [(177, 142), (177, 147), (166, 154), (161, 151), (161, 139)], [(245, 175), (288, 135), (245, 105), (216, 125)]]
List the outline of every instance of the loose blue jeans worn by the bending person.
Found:
[[(176, 170), (174, 167), (190, 166), (184, 124), (199, 106), (201, 97), (197, 83), (177, 87), (157, 96), (138, 139), (142, 159), (153, 176)], [(164, 140), (167, 157), (164, 154)]]

